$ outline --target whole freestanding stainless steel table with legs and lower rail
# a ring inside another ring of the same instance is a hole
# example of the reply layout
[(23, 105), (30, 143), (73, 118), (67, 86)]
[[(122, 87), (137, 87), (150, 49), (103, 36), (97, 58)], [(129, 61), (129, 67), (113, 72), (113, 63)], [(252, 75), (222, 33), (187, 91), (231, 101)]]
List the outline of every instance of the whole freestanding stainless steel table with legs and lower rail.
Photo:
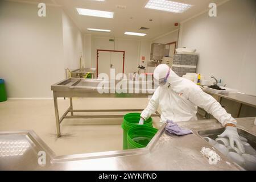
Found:
[[(126, 80), (122, 80), (126, 81)], [(72, 97), (148, 97), (154, 93), (154, 83), (145, 82), (145, 81), (133, 81), (127, 82), (126, 88), (129, 88), (129, 84), (133, 85), (133, 89), (127, 90), (128, 93), (121, 93), (122, 90), (117, 90), (116, 85), (119, 84), (120, 80), (98, 80), (98, 79), (82, 79), (82, 78), (67, 78), (63, 81), (57, 82), (51, 86), (53, 91), (53, 100), (55, 106), (55, 117), (56, 117), (56, 126), (57, 126), (57, 137), (61, 137), (60, 133), (60, 123), (65, 118), (119, 118), (123, 117), (121, 115), (75, 115), (77, 112), (117, 112), (117, 111), (142, 111), (142, 109), (105, 109), (105, 110), (74, 110)], [(99, 84), (105, 84), (107, 93), (99, 93), (98, 88)], [(143, 84), (148, 84), (146, 88), (143, 88)], [(65, 111), (65, 113), (59, 117), (59, 109), (57, 104), (58, 97), (69, 97), (70, 106)], [(71, 115), (68, 115), (70, 113)], [(156, 111), (156, 114), (153, 114), (152, 117), (158, 116), (160, 114)]]

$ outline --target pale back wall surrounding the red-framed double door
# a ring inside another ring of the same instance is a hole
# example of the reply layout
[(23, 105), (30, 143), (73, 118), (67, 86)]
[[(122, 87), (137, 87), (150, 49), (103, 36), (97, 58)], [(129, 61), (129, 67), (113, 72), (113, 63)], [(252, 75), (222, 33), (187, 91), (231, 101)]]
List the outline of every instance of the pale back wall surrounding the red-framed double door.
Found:
[[(87, 40), (85, 38), (84, 40)], [(109, 37), (92, 37), (92, 68), (96, 68), (97, 49), (111, 49), (125, 51), (125, 73), (137, 72), (139, 64), (142, 64), (141, 56), (150, 59), (150, 40), (135, 40), (115, 38), (110, 42)], [(86, 44), (86, 43), (85, 43)], [(89, 47), (89, 46), (88, 46)], [(85, 51), (86, 52), (86, 51)], [(85, 56), (86, 57), (86, 56)]]

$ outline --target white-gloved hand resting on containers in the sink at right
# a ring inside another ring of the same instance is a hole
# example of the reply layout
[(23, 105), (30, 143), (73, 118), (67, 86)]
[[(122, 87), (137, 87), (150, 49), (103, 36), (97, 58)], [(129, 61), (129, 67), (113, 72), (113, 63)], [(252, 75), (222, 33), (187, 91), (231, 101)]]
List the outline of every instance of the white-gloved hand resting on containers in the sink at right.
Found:
[(218, 137), (227, 137), (229, 138), (229, 143), (232, 148), (234, 148), (234, 143), (236, 143), (237, 148), (243, 153), (245, 153), (245, 148), (243, 148), (243, 144), (241, 143), (240, 137), (237, 133), (237, 127), (226, 126), (225, 131), (218, 135)]

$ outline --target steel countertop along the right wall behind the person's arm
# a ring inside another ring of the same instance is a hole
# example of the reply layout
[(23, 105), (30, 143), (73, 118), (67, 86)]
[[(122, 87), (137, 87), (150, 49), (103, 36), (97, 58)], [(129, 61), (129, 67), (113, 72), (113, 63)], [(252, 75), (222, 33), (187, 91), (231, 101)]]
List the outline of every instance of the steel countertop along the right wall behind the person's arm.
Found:
[(204, 92), (206, 92), (208, 94), (213, 94), (214, 96), (227, 98), (228, 100), (236, 101), (241, 104), (249, 105), (251, 107), (256, 107), (256, 96), (251, 96), (249, 94), (244, 94), (244, 93), (240, 93), (240, 92), (222, 94), (222, 93), (213, 93), (210, 91), (206, 91), (205, 89), (203, 89), (203, 90), (204, 90)]

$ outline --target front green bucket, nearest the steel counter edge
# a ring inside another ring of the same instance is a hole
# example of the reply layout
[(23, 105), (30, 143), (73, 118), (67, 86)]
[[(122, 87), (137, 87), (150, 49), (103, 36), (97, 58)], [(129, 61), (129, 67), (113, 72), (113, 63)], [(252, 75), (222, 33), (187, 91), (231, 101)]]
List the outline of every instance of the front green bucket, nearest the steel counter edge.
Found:
[(155, 136), (158, 129), (154, 127), (133, 127), (127, 133), (127, 148), (143, 148)]

